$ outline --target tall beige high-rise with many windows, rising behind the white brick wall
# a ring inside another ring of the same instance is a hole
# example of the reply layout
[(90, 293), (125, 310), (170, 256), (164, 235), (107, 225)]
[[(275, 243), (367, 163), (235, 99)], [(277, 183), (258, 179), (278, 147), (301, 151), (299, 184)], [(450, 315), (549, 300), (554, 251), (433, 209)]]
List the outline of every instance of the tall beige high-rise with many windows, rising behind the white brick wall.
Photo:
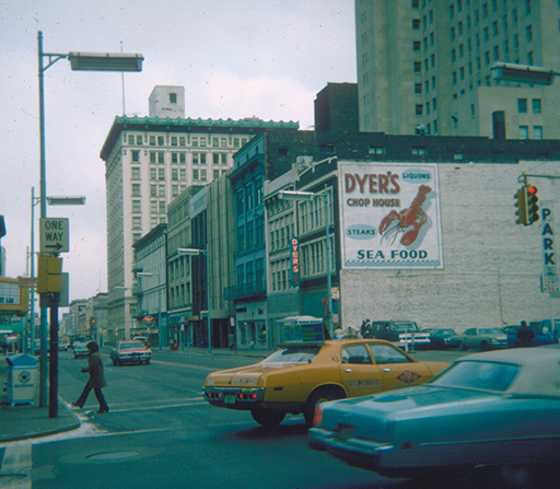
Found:
[(492, 77), (558, 69), (552, 0), (355, 0), (360, 130), (558, 139), (560, 84)]

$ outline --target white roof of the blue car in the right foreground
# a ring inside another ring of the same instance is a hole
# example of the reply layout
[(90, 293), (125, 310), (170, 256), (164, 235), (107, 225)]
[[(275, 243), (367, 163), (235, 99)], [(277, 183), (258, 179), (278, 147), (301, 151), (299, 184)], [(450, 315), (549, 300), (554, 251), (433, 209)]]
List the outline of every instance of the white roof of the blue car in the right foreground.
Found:
[(560, 398), (560, 346), (514, 348), (475, 353), (463, 361), (488, 361), (520, 365), (520, 373), (505, 394)]

